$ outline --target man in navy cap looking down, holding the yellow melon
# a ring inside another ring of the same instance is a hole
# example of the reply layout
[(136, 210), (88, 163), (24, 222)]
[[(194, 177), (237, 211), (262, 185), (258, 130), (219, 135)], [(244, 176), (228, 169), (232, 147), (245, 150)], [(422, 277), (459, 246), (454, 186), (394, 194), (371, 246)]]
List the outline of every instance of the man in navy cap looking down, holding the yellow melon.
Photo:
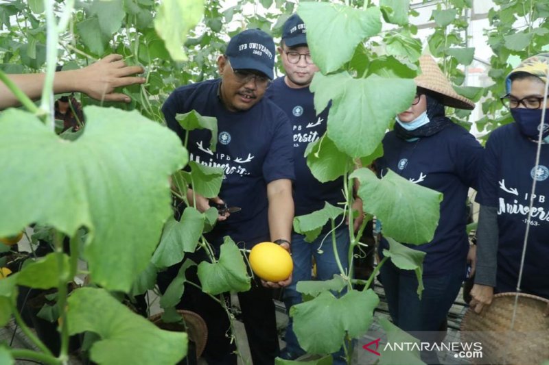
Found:
[[(181, 86), (162, 108), (167, 126), (182, 142), (188, 141), (189, 160), (224, 169), (219, 197), (208, 200), (197, 195), (198, 210), (204, 212), (210, 206), (240, 207), (238, 211), (220, 214), (217, 225), (205, 234), (216, 255), (225, 236), (230, 236), (241, 249), (251, 249), (264, 241), (290, 249), (294, 217), (292, 130), (288, 116), (264, 98), (273, 77), (274, 53), (274, 42), (265, 32), (240, 32), (218, 58), (220, 79)], [(195, 129), (186, 137), (176, 115), (191, 110), (217, 118), (215, 146), (210, 144), (211, 131), (207, 129)], [(187, 197), (192, 203), (192, 190)], [(195, 262), (208, 260), (204, 250), (190, 257)], [(180, 264), (170, 268), (168, 275), (174, 277), (178, 267)], [(186, 277), (199, 282), (196, 266), (187, 270)], [(270, 288), (287, 286), (290, 281), (291, 276), (278, 283), (259, 282), (256, 278), (248, 292), (238, 293), (254, 364), (274, 364), (279, 355)], [(235, 344), (226, 336), (229, 318), (221, 305), (200, 289), (185, 284), (180, 307), (197, 312), (208, 325), (203, 355), (207, 362), (237, 364)]]

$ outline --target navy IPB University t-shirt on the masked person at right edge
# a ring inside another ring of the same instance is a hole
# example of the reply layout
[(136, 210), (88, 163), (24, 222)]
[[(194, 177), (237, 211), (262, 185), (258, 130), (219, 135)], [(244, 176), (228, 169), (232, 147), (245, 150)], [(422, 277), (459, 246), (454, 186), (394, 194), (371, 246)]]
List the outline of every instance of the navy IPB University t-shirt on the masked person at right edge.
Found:
[(549, 144), (537, 144), (511, 123), (493, 131), (486, 144), (476, 201), (498, 208), (498, 274), (496, 288), (514, 292), (518, 282), (533, 179), (535, 199), (521, 288), (549, 298)]

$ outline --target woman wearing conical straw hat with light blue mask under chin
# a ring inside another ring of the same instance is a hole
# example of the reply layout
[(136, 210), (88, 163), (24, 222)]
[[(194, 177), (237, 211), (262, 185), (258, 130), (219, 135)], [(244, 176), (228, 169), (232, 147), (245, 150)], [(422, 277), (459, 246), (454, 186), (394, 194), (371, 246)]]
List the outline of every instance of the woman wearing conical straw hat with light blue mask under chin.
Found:
[[(390, 168), (416, 184), (442, 192), (439, 226), (431, 242), (410, 246), (426, 253), (421, 299), (414, 271), (386, 262), (380, 277), (393, 323), (405, 331), (421, 331), (414, 336), (434, 342), (437, 336), (433, 332), (445, 326), (447, 312), (466, 276), (466, 200), (469, 187), (476, 187), (482, 147), (444, 111), (445, 105), (471, 110), (474, 103), (454, 91), (430, 55), (423, 55), (419, 64), (422, 73), (415, 79), (417, 96), (408, 110), (398, 114), (394, 130), (386, 134), (384, 156), (376, 167), (380, 175)], [(382, 241), (379, 254), (387, 247)], [(421, 357), (428, 364), (439, 364), (434, 351), (421, 353)]]

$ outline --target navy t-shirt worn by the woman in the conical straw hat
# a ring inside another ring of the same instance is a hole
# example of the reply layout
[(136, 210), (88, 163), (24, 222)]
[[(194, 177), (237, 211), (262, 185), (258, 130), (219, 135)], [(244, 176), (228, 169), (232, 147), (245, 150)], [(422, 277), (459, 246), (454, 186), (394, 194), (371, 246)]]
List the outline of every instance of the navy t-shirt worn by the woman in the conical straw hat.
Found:
[[(477, 186), (482, 146), (467, 130), (452, 123), (438, 133), (414, 142), (407, 142), (390, 131), (383, 139), (383, 149), (384, 156), (376, 162), (381, 175), (390, 168), (415, 184), (444, 194), (439, 226), (432, 241), (409, 245), (427, 253), (423, 260), (423, 275), (439, 275), (450, 269), (463, 269), (465, 275), (469, 251), (465, 230), (467, 192), (469, 187)], [(381, 248), (388, 248), (383, 241)], [(414, 275), (411, 270), (410, 275)]]

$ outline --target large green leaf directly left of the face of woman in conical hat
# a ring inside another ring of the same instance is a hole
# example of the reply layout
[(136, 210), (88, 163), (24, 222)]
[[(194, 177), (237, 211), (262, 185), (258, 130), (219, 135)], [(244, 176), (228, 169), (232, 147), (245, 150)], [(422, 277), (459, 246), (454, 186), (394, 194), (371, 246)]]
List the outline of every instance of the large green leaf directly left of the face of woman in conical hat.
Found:
[(329, 138), (340, 151), (361, 158), (375, 151), (391, 121), (410, 107), (416, 84), (412, 79), (377, 75), (353, 79), (348, 73), (316, 73), (311, 91), (316, 110), (326, 108), (330, 100), (333, 102), (328, 114)]

